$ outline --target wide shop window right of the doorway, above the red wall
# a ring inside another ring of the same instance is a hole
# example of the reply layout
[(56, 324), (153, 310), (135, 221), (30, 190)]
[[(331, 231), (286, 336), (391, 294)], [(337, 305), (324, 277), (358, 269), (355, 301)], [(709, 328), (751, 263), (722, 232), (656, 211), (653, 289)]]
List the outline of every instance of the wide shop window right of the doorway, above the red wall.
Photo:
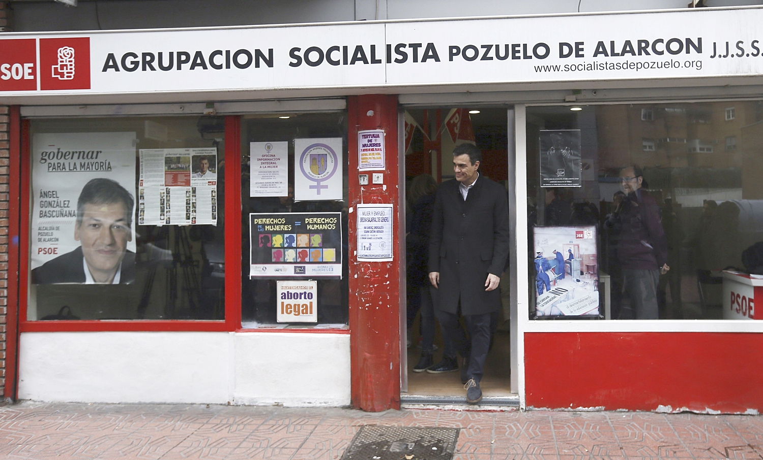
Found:
[[(763, 273), (763, 127), (697, 120), (761, 103), (727, 104), (527, 107), (530, 318), (752, 319), (723, 292)], [(671, 116), (639, 123), (648, 110)], [(562, 144), (571, 155), (549, 156)], [(735, 155), (713, 155), (719, 145)]]

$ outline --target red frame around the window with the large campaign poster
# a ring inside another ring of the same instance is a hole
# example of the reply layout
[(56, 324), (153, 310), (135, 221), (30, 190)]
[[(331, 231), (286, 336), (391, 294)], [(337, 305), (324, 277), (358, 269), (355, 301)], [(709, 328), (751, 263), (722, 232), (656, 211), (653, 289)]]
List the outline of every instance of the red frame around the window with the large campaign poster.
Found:
[[(241, 328), (241, 117), (225, 117), (225, 319), (208, 320), (71, 320), (27, 321), (29, 279), (29, 230), (31, 222), (31, 142), (30, 121), (21, 120), (21, 149), (11, 146), (10, 200), (17, 203), (18, 234), (18, 319), (20, 332), (77, 331), (208, 331), (208, 332), (289, 332), (312, 334), (349, 334), (349, 329), (242, 329)], [(230, 174), (233, 173), (233, 174)], [(11, 235), (12, 237), (12, 235)], [(11, 263), (13, 261), (11, 260)], [(11, 271), (14, 271), (11, 269)], [(9, 283), (9, 299), (15, 286)], [(14, 308), (14, 305), (8, 305)]]

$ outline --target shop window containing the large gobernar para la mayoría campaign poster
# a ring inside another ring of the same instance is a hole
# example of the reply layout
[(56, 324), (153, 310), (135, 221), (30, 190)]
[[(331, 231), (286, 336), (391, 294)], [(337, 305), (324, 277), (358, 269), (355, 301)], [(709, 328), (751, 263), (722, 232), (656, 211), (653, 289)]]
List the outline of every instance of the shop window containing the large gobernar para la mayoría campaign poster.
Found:
[(224, 119), (31, 121), (27, 320), (224, 319)]

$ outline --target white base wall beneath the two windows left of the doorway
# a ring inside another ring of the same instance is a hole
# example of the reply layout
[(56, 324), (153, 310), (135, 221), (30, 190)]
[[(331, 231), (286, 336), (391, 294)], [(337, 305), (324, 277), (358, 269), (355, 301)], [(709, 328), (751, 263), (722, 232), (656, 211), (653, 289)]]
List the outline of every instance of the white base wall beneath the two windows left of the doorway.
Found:
[(349, 334), (30, 332), (19, 352), (21, 399), (349, 404)]

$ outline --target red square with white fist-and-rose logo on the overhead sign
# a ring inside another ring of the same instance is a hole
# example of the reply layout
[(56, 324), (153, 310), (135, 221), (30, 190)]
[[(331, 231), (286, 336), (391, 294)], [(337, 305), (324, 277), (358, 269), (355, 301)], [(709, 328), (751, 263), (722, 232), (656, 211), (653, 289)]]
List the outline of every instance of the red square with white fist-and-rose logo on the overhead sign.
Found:
[(40, 38), (40, 89), (90, 89), (90, 37)]

